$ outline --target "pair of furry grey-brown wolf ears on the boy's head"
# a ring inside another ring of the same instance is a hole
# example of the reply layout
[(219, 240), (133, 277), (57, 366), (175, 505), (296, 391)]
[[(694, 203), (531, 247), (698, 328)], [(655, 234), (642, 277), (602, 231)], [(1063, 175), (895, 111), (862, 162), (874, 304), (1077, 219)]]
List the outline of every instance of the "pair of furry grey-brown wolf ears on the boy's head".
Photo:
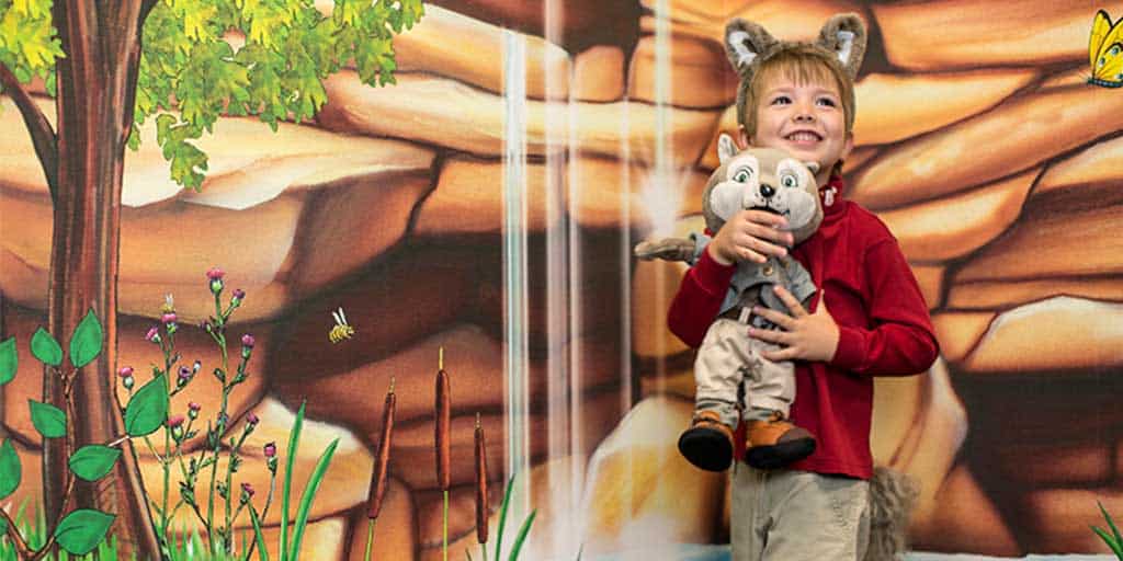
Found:
[(725, 54), (742, 81), (750, 81), (760, 62), (796, 47), (818, 47), (838, 61), (844, 75), (855, 81), (866, 56), (866, 25), (857, 13), (839, 13), (827, 20), (814, 43), (777, 40), (752, 21), (733, 19), (725, 26)]

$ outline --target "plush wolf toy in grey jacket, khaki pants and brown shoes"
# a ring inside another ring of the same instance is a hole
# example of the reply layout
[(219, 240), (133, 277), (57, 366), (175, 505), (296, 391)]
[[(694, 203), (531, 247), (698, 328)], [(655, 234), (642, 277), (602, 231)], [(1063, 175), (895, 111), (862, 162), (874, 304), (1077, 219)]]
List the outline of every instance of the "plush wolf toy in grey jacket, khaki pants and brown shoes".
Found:
[[(815, 184), (819, 164), (800, 162), (776, 148), (750, 148), (738, 153), (733, 139), (718, 141), (721, 165), (710, 176), (702, 195), (706, 230), (716, 232), (742, 209), (759, 209), (787, 219), (787, 229), (798, 243), (819, 228), (823, 210)], [(640, 243), (640, 258), (685, 258), (693, 263), (710, 238), (666, 239)], [(760, 305), (778, 311), (787, 306), (773, 292), (787, 288), (804, 305), (815, 294), (811, 275), (791, 257), (769, 257), (765, 263), (742, 261), (694, 362), (696, 384), (694, 419), (678, 439), (678, 449), (691, 463), (710, 471), (729, 467), (733, 458), (733, 433), (747, 424), (746, 461), (773, 469), (806, 458), (815, 449), (814, 436), (787, 422), (795, 397), (795, 366), (774, 362), (761, 352), (778, 350), (749, 337), (748, 325), (776, 329), (754, 315)]]

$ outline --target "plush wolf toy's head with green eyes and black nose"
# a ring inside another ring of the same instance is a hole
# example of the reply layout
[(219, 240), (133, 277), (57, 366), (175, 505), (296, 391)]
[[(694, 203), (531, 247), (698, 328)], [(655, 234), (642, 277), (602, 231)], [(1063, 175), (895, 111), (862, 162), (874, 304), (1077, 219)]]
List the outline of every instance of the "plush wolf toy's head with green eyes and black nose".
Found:
[(718, 230), (742, 209), (774, 212), (787, 219), (785, 230), (798, 243), (807, 239), (823, 220), (815, 184), (815, 163), (795, 159), (776, 148), (737, 151), (732, 138), (718, 142), (721, 166), (710, 176), (702, 196), (706, 228)]

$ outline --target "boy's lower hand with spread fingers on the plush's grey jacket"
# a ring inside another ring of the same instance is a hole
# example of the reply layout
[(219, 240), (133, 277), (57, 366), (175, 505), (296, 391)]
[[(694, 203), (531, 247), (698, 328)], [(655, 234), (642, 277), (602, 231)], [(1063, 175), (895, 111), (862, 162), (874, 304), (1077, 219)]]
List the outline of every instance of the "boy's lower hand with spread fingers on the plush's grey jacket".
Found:
[(827, 311), (823, 293), (819, 294), (819, 309), (809, 314), (806, 310), (780, 286), (775, 286), (776, 295), (787, 304), (792, 315), (757, 306), (752, 313), (779, 325), (784, 331), (749, 328), (749, 337), (784, 347), (778, 351), (760, 355), (773, 362), (780, 360), (829, 361), (834, 358), (839, 346), (839, 327)]

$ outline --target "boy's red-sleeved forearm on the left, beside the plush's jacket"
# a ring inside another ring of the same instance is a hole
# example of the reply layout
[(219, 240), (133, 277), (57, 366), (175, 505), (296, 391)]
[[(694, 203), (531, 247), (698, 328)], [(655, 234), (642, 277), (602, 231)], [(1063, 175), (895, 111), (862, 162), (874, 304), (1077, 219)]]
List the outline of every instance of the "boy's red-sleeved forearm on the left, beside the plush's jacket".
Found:
[(702, 251), (697, 263), (687, 269), (675, 300), (670, 302), (667, 312), (670, 332), (691, 348), (700, 347), (706, 329), (718, 316), (736, 272), (736, 265), (722, 265), (713, 259), (710, 251)]

